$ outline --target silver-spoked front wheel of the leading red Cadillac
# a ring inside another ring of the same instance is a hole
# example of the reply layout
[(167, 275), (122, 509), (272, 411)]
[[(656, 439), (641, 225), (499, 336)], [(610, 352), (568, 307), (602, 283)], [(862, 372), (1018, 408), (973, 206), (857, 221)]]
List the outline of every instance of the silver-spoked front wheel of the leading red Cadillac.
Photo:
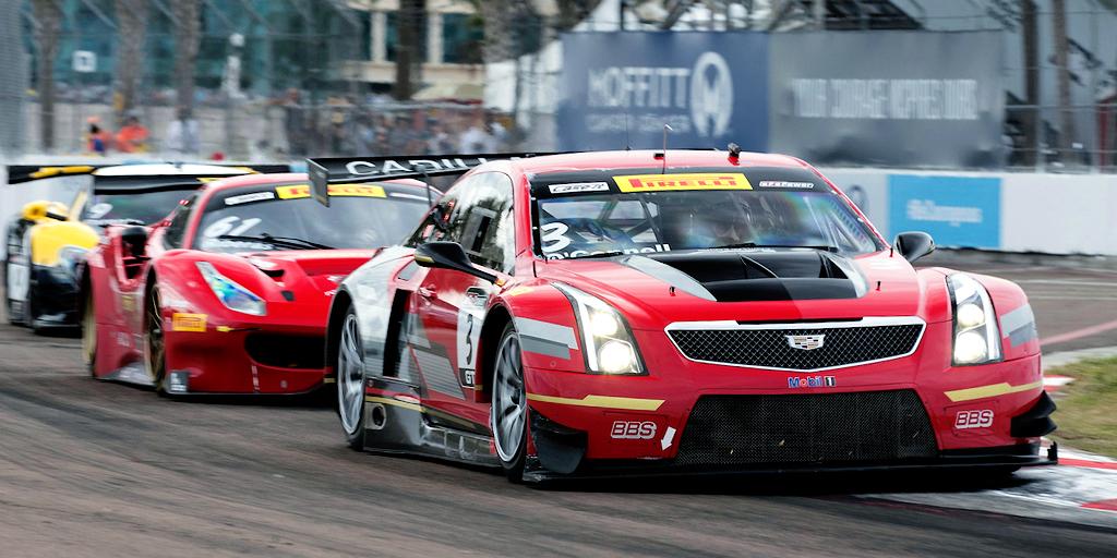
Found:
[(497, 347), (489, 405), (493, 445), (508, 480), (521, 482), (527, 454), (527, 391), (519, 335), (512, 323), (505, 326)]

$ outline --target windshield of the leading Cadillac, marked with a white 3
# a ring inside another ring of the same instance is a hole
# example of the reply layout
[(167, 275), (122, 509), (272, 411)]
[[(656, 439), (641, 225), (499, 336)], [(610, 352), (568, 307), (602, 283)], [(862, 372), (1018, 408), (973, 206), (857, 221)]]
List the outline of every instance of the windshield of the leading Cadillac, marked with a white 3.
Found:
[[(678, 176), (698, 177), (697, 185), (674, 185), (686, 184)], [(542, 254), (566, 259), (801, 247), (860, 254), (880, 249), (866, 223), (824, 183), (764, 180), (752, 173), (748, 179), (737, 173), (728, 176), (738, 179), (724, 183), (701, 183), (707, 176), (715, 175), (658, 175), (660, 182), (651, 185), (636, 176), (565, 184), (550, 181), (538, 189), (536, 201)]]

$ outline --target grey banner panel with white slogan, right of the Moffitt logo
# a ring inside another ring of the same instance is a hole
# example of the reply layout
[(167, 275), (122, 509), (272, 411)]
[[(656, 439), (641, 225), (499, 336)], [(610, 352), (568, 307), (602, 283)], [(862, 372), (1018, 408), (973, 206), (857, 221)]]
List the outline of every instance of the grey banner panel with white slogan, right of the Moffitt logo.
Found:
[(1000, 167), (999, 32), (772, 36), (772, 151), (815, 164)]

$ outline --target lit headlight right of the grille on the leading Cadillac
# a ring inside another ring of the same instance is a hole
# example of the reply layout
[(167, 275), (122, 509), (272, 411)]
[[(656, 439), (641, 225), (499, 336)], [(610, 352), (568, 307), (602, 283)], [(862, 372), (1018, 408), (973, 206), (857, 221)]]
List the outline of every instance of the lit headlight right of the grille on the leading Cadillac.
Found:
[(954, 304), (954, 364), (967, 366), (1001, 359), (1001, 331), (989, 291), (974, 278), (955, 273), (946, 279)]

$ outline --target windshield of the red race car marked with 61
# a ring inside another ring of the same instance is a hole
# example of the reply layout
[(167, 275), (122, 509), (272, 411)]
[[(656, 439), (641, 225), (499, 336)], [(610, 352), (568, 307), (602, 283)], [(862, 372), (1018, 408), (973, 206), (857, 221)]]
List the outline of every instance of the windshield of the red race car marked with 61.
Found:
[(331, 186), (328, 208), (311, 198), (305, 184), (238, 189), (209, 202), (194, 244), (211, 252), (395, 244), (428, 209), (426, 198), (402, 189)]

